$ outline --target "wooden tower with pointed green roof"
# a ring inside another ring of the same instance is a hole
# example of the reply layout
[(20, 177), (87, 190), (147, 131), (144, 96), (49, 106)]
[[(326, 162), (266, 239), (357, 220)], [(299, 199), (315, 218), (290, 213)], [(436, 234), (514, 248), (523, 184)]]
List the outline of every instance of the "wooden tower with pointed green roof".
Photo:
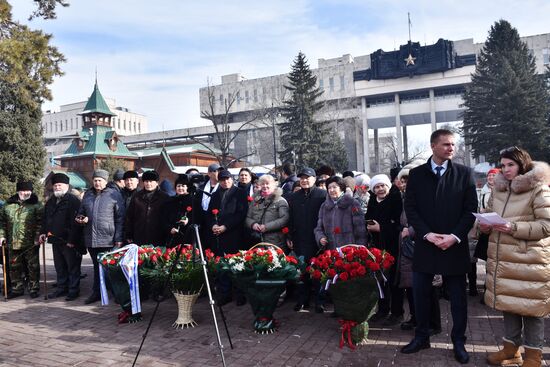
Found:
[(111, 112), (101, 95), (97, 79), (80, 115), (82, 130), (73, 138), (65, 153), (55, 157), (61, 166), (82, 174), (90, 182), (94, 170), (101, 168), (101, 163), (108, 158), (124, 160), (127, 169), (134, 169), (138, 157), (119, 139), (113, 127), (116, 114)]

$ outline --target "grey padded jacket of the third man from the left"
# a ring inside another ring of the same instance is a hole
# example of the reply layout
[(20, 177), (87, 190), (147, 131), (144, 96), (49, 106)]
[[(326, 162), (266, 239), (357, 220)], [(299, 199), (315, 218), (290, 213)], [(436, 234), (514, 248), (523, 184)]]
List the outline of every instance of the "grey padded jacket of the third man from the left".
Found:
[[(114, 242), (122, 242), (125, 210), (122, 196), (112, 188), (106, 187), (101, 192), (86, 191), (78, 210), (79, 215), (88, 217), (84, 227), (86, 247), (112, 247)], [(77, 227), (74, 228), (71, 243), (77, 242), (75, 237), (80, 233)]]

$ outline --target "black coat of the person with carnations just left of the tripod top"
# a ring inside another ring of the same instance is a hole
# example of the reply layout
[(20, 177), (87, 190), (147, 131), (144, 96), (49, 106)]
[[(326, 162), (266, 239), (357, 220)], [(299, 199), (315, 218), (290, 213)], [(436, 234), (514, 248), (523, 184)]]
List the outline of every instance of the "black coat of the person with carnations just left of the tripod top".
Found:
[[(164, 225), (164, 234), (166, 236), (166, 246), (174, 247), (179, 244), (188, 244), (191, 243), (193, 239), (193, 233), (190, 231), (191, 225), (191, 216), (193, 214), (193, 197), (191, 194), (187, 195), (176, 195), (171, 197), (164, 204), (163, 209), (163, 221)], [(191, 211), (188, 211), (187, 208), (190, 208)], [(172, 228), (178, 228), (179, 221), (183, 216), (186, 216), (189, 219), (187, 225), (180, 225), (179, 232), (175, 235), (172, 235), (170, 231)], [(189, 231), (188, 231), (189, 229)]]

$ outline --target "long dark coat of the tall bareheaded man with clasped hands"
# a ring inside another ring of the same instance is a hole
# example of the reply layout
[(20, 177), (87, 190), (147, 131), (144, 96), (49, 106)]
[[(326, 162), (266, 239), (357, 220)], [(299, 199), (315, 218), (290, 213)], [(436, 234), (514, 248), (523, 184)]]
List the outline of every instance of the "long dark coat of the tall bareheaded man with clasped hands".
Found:
[[(441, 178), (432, 171), (431, 158), (413, 168), (407, 182), (405, 211), (416, 232), (413, 270), (442, 275), (470, 271), (468, 232), (474, 223), (477, 193), (472, 170), (449, 161)], [(460, 238), (447, 250), (424, 240), (428, 233), (454, 234)]]

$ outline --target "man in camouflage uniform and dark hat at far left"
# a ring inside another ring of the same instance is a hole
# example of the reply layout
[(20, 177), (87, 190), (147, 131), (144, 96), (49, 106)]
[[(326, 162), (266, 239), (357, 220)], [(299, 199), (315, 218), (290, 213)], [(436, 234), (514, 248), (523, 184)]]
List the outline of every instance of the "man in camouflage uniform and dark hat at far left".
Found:
[(28, 273), (31, 298), (38, 297), (40, 289), (39, 247), (35, 246), (35, 240), (43, 207), (32, 190), (32, 182), (18, 182), (17, 194), (0, 210), (0, 242), (6, 239), (10, 258), (11, 292), (8, 298), (23, 294), (24, 271)]

